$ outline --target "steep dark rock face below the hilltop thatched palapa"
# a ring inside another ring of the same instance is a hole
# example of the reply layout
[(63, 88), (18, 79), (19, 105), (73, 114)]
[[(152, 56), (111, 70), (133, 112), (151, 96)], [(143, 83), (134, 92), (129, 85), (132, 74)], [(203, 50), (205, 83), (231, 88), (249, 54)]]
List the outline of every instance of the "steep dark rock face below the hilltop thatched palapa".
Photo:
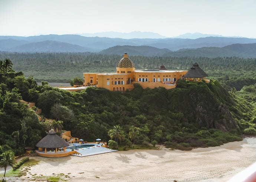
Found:
[(179, 109), (183, 110), (184, 116), (191, 116), (187, 118), (188, 122), (194, 120), (199, 127), (216, 128), (223, 131), (239, 128), (239, 123), (234, 120), (231, 111), (225, 104), (229, 102), (233, 104), (234, 100), (219, 83), (186, 86), (186, 92)]

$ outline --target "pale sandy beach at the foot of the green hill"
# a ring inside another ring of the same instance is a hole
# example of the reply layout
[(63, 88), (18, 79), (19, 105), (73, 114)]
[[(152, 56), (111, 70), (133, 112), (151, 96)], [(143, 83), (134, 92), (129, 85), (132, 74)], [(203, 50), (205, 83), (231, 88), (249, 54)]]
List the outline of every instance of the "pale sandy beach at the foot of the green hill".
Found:
[(256, 138), (230, 142), (219, 147), (192, 151), (129, 150), (89, 157), (30, 157), (39, 160), (30, 174), (19, 178), (29, 181), (33, 174), (69, 174), (69, 182), (226, 182), (256, 161)]

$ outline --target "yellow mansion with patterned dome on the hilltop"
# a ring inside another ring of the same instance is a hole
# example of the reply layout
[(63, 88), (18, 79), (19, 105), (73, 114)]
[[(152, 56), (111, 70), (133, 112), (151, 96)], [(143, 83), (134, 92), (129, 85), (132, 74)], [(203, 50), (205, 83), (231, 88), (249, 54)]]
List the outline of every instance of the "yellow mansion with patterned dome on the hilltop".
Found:
[(135, 70), (134, 63), (124, 54), (116, 68), (116, 73), (83, 73), (83, 85), (96, 85), (108, 90), (125, 91), (133, 89), (134, 83), (142, 88), (165, 87), (172, 89), (178, 79), (182, 79), (187, 71), (167, 70), (163, 65), (158, 70)]

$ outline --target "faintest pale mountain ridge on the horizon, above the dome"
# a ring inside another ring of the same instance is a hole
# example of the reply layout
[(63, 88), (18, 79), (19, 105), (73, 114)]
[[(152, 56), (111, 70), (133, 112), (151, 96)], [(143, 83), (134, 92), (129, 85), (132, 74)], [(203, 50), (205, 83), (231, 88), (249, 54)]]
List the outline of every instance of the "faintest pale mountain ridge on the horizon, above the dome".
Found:
[(132, 39), (132, 38), (167, 38), (163, 35), (154, 33), (154, 32), (139, 32), (134, 31), (130, 33), (121, 33), (121, 32), (98, 32), (98, 33), (83, 33), (78, 34), (84, 37), (108, 37), (108, 38), (124, 38), (124, 39)]

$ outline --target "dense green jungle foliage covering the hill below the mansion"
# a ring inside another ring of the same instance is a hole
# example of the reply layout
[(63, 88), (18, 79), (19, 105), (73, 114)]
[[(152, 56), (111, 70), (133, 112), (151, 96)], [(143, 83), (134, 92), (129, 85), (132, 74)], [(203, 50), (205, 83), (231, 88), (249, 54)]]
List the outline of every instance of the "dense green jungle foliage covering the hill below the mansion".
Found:
[[(234, 89), (227, 92), (217, 80), (179, 80), (171, 90), (135, 84), (124, 93), (94, 87), (69, 92), (47, 82), (37, 85), (32, 76), (14, 72), (9, 59), (1, 61), (0, 68), (0, 150), (13, 150), (16, 155), (24, 146), (35, 146), (53, 128), (47, 119), (62, 121), (60, 128), (87, 141), (109, 141), (113, 127), (119, 126), (122, 146), (158, 143), (189, 150), (242, 140), (243, 133), (256, 134), (255, 102), (236, 96)], [(253, 86), (248, 88), (244, 92), (255, 92)], [(36, 107), (30, 109), (21, 99), (35, 102)], [(43, 112), (40, 120), (37, 108)]]

